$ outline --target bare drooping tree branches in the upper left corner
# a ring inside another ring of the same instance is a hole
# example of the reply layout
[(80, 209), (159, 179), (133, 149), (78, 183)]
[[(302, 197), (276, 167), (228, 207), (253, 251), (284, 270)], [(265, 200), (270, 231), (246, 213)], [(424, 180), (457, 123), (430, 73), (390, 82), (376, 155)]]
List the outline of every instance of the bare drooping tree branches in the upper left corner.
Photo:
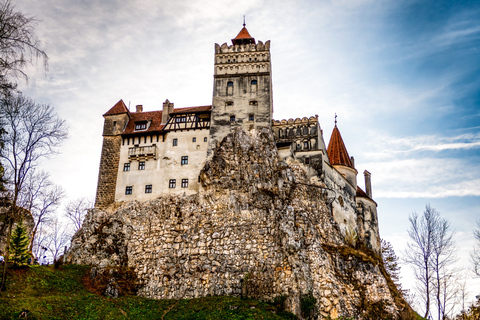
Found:
[(34, 59), (42, 60), (45, 70), (48, 56), (41, 49), (41, 43), (34, 34), (37, 20), (16, 12), (10, 0), (0, 2), (0, 89), (10, 91), (16, 88), (12, 78), (28, 79), (23, 71)]

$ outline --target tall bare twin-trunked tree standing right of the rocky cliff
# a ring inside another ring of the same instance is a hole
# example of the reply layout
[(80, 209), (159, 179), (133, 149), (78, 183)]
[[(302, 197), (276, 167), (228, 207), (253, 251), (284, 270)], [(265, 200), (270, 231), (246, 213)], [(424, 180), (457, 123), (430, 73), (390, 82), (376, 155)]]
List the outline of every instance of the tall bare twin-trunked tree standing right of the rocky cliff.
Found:
[(450, 224), (430, 205), (423, 215), (413, 213), (409, 217), (410, 240), (405, 252), (405, 261), (412, 265), (417, 279), (417, 290), (425, 303), (425, 315), (431, 315), (432, 297), (437, 305), (438, 318), (445, 318), (446, 307), (454, 297), (452, 283), (454, 272), (450, 269), (455, 261), (453, 231)]

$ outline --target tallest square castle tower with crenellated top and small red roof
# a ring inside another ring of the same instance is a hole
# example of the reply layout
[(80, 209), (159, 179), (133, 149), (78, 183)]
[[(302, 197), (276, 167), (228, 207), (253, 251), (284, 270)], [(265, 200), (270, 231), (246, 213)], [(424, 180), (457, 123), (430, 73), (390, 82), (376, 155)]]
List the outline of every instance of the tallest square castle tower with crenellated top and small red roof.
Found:
[(207, 158), (237, 126), (271, 126), (273, 113), (270, 41), (256, 42), (243, 24), (232, 45), (215, 44), (212, 118)]

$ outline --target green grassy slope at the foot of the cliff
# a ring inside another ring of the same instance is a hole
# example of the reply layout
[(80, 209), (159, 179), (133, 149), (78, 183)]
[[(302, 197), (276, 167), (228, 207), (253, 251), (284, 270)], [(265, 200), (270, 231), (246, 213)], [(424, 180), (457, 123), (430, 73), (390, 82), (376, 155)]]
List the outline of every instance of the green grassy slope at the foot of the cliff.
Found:
[[(109, 299), (89, 291), (82, 277), (88, 266), (61, 269), (32, 266), (9, 271), (0, 294), (0, 319), (295, 319), (273, 304), (238, 297), (152, 300), (138, 296)], [(1, 270), (1, 268), (0, 268)]]

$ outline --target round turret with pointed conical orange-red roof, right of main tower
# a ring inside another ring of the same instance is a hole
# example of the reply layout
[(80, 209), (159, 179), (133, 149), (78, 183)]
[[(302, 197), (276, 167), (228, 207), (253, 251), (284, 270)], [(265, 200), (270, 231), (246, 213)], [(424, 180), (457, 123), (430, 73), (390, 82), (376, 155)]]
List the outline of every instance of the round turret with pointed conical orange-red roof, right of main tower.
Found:
[(345, 179), (347, 179), (354, 189), (356, 189), (358, 171), (355, 169), (353, 157), (350, 158), (348, 155), (342, 135), (337, 128), (336, 120), (332, 136), (330, 137), (330, 142), (328, 143), (327, 153), (330, 164), (337, 169)]

